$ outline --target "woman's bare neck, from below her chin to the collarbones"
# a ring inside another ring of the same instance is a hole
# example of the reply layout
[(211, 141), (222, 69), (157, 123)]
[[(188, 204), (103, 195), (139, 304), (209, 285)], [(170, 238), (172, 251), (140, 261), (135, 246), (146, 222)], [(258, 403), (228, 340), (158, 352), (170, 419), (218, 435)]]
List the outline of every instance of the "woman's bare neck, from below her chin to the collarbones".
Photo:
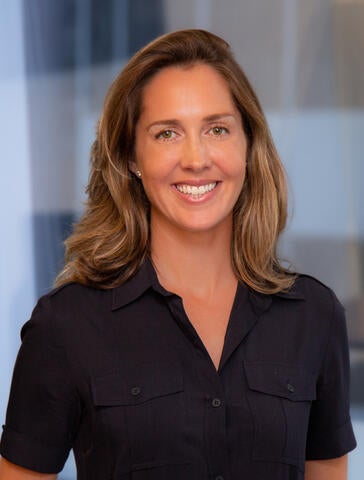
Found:
[(236, 285), (231, 263), (231, 228), (181, 231), (151, 222), (151, 256), (161, 284), (179, 295), (213, 298)]

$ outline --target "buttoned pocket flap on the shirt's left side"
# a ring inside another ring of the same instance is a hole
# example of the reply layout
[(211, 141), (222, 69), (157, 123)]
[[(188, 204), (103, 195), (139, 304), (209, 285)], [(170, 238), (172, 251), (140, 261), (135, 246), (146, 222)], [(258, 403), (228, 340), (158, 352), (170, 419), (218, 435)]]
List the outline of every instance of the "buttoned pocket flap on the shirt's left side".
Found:
[(183, 378), (171, 365), (144, 364), (133, 371), (117, 371), (92, 379), (96, 406), (138, 405), (182, 391)]

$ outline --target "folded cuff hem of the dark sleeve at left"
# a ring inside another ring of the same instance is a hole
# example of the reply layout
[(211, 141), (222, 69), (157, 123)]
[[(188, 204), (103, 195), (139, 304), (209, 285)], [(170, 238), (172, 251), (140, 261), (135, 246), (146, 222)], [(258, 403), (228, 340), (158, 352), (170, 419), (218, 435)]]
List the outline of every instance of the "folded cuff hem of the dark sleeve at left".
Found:
[(0, 454), (6, 460), (38, 473), (57, 474), (62, 471), (70, 448), (46, 445), (7, 426), (3, 428)]

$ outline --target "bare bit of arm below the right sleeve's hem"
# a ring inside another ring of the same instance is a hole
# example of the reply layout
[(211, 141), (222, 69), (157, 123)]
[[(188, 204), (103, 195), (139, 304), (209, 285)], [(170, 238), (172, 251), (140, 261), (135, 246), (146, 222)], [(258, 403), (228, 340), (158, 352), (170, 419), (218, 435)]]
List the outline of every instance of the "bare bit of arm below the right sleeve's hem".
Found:
[(306, 462), (305, 480), (347, 480), (347, 478), (347, 455), (330, 460), (310, 460)]

